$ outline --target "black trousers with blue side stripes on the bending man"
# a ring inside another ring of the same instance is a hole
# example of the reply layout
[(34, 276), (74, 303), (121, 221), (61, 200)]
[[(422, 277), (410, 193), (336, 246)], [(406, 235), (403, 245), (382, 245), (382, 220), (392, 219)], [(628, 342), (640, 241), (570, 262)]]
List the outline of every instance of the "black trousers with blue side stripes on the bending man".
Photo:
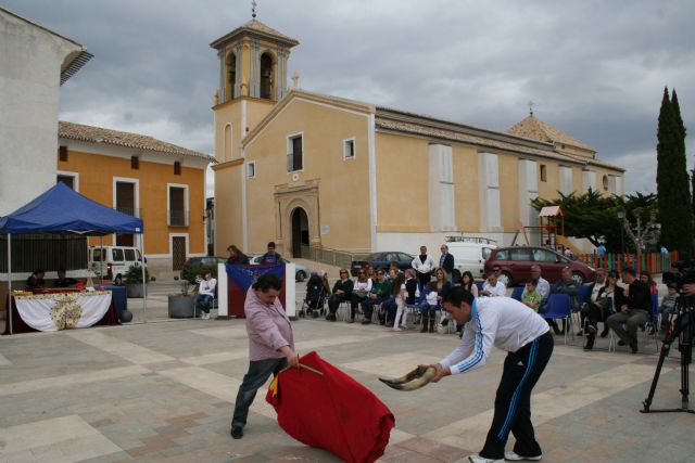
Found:
[(495, 414), (480, 456), (504, 459), (509, 432), (517, 439), (514, 451), (522, 456), (542, 454), (531, 424), (531, 391), (553, 353), (548, 331), (516, 352), (507, 353), (495, 397)]

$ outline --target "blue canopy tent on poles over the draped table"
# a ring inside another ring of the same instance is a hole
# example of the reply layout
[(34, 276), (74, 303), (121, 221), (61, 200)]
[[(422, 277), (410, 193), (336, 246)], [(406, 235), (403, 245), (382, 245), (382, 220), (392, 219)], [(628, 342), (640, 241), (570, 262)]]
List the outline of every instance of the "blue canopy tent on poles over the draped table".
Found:
[[(111, 233), (143, 234), (142, 220), (103, 206), (73, 191), (62, 182), (5, 217), (0, 233), (8, 235), (8, 292), (12, 294), (12, 235), (27, 233), (78, 233), (103, 236)], [(140, 255), (144, 258), (140, 240)], [(142, 285), (144, 286), (144, 266)], [(144, 288), (143, 288), (144, 294)], [(147, 313), (146, 297), (142, 310)], [(9, 317), (12, 334), (12, 311)]]

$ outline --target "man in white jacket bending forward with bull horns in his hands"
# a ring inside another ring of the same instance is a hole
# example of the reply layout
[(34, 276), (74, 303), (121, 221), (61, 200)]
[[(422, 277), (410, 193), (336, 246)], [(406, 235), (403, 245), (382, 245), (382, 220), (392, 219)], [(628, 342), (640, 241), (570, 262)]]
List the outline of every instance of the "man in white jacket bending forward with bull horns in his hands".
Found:
[[(508, 297), (473, 298), (460, 287), (444, 299), (444, 308), (465, 324), (459, 346), (435, 365), (434, 383), (485, 364), (492, 346), (507, 351), (495, 412), (480, 454), (473, 463), (539, 461), (541, 447), (531, 424), (531, 390), (553, 353), (553, 335), (545, 320), (523, 304)], [(516, 437), (514, 451), (504, 448), (509, 432)]]

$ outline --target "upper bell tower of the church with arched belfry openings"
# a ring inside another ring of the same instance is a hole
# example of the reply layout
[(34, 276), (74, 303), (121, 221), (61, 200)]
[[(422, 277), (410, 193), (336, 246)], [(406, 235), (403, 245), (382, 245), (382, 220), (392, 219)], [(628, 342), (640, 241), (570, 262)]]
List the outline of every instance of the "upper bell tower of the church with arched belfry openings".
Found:
[(299, 44), (256, 20), (213, 41), (219, 57), (215, 91), (215, 155), (220, 163), (241, 157), (241, 140), (288, 91), (287, 62)]

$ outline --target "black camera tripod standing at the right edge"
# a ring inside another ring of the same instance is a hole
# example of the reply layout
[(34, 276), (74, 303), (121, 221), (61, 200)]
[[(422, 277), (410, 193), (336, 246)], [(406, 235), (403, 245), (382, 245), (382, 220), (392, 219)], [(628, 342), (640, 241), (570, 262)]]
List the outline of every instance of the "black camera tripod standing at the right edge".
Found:
[[(656, 372), (654, 373), (654, 380), (652, 381), (652, 387), (649, 388), (649, 395), (642, 402), (644, 409), (640, 410), (642, 413), (695, 413), (690, 408), (687, 396), (690, 394), (690, 375), (688, 365), (693, 359), (693, 330), (695, 330), (695, 312), (693, 307), (685, 307), (683, 296), (679, 298), (675, 318), (673, 320), (673, 330), (667, 335), (664, 344), (661, 345), (661, 353), (659, 355), (659, 361), (656, 365)], [(656, 391), (656, 385), (661, 374), (661, 366), (664, 366), (664, 360), (668, 357), (671, 350), (671, 344), (674, 340), (679, 340), (679, 350), (681, 351), (681, 407), (678, 409), (657, 409), (653, 410), (652, 400), (654, 399), (654, 393)]]

